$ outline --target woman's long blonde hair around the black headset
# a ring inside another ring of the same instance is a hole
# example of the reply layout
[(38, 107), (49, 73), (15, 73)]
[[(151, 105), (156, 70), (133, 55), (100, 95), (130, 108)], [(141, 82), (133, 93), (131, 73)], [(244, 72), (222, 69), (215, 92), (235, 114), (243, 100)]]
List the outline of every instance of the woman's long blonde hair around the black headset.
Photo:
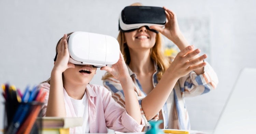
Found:
[[(141, 3), (133, 3), (131, 6), (142, 6)], [(124, 60), (126, 64), (129, 64), (131, 61), (130, 58), (130, 52), (128, 45), (125, 43), (125, 34), (121, 31), (119, 31), (119, 34), (117, 36), (117, 41), (120, 45), (120, 50), (124, 56)], [(160, 33), (156, 34), (156, 43), (155, 45), (151, 48), (151, 53), (150, 57), (151, 59), (157, 64), (158, 66), (158, 72), (157, 72), (157, 80), (159, 81), (162, 78), (163, 73), (168, 69), (170, 65), (170, 59), (168, 60), (167, 57), (163, 55), (162, 52), (162, 37)], [(109, 77), (113, 77), (109, 72), (106, 72), (105, 75), (102, 77), (102, 80), (108, 79)]]

